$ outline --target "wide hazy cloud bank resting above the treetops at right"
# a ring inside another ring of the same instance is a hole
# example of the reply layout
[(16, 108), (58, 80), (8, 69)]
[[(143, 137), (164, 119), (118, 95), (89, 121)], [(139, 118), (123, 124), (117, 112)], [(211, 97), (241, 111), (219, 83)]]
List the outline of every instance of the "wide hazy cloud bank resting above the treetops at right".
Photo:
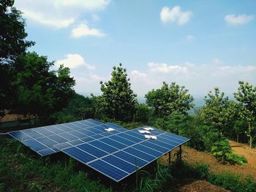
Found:
[[(138, 73), (137, 70), (134, 71), (133, 73)], [(131, 73), (132, 88), (139, 96), (153, 88), (160, 88), (163, 81), (185, 85), (194, 96), (203, 96), (216, 86), (229, 95), (233, 94), (238, 88), (238, 80), (256, 84), (256, 65), (230, 65), (219, 59), (214, 59), (209, 64), (185, 62), (170, 65), (151, 62), (145, 71), (139, 73), (145, 74), (144, 77), (138, 78)]]

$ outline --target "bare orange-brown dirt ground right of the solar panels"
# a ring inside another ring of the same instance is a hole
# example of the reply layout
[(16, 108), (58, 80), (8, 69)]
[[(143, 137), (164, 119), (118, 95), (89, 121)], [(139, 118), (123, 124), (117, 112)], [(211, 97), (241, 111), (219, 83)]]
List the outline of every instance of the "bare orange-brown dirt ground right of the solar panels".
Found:
[[(196, 163), (204, 163), (209, 164), (211, 167), (211, 171), (214, 173), (223, 173), (223, 172), (233, 172), (234, 174), (243, 174), (251, 175), (256, 179), (256, 149), (249, 149), (249, 146), (246, 144), (241, 144), (238, 142), (229, 141), (230, 146), (233, 149), (233, 153), (238, 155), (244, 155), (248, 161), (248, 164), (244, 165), (229, 165), (229, 164), (221, 164), (214, 158), (213, 155), (209, 153), (199, 152), (190, 147), (183, 146), (184, 150), (183, 159), (187, 161), (189, 164)], [(174, 159), (173, 155), (176, 151), (172, 151), (171, 155)], [(162, 157), (162, 162), (167, 164), (168, 155)], [(215, 192), (215, 191), (227, 191), (223, 188), (217, 187), (216, 185), (211, 185), (206, 181), (202, 180), (193, 180), (189, 182), (185, 182), (181, 185), (181, 187), (177, 188), (177, 191), (185, 192)]]

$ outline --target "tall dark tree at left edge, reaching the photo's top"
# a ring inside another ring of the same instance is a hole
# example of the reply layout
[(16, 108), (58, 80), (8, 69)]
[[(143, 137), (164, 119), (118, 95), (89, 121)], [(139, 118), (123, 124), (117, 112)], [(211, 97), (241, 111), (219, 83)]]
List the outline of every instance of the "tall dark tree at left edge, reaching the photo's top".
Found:
[(27, 47), (34, 45), (26, 40), (25, 22), (13, 4), (14, 0), (0, 0), (0, 111), (10, 108), (15, 99), (12, 64)]

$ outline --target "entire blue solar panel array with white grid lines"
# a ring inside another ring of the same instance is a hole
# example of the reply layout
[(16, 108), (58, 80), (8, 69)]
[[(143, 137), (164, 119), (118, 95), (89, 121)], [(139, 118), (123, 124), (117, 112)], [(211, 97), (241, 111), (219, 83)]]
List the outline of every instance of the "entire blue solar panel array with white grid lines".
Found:
[(157, 139), (147, 139), (143, 130), (88, 119), (8, 134), (39, 155), (61, 151), (118, 182), (189, 140), (157, 128), (150, 131)]

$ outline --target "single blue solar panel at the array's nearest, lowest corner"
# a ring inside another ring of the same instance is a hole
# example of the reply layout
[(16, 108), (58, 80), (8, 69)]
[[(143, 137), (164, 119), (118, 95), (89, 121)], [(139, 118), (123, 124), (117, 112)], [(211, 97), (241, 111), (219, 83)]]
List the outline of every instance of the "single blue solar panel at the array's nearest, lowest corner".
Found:
[(124, 172), (121, 169), (118, 169), (116, 166), (112, 166), (102, 160), (91, 162), (89, 166), (91, 166), (91, 168), (93, 169), (96, 169), (98, 172), (101, 172), (102, 174), (111, 177), (113, 180), (116, 180), (117, 182), (122, 178), (127, 177), (127, 175), (129, 175), (129, 173)]

